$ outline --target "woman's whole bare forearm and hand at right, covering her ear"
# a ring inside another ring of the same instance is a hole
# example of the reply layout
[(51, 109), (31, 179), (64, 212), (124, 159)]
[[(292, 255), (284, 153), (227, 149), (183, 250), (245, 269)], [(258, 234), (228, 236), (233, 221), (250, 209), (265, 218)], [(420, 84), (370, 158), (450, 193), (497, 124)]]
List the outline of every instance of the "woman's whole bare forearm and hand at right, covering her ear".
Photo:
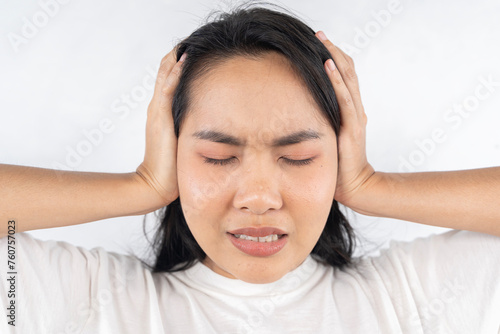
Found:
[[(321, 32), (316, 34), (318, 38)], [(375, 172), (366, 158), (366, 115), (348, 55), (326, 38), (325, 70), (340, 106), (335, 199), (358, 213), (500, 236), (500, 167), (425, 173)], [(458, 203), (458, 204), (457, 204)]]

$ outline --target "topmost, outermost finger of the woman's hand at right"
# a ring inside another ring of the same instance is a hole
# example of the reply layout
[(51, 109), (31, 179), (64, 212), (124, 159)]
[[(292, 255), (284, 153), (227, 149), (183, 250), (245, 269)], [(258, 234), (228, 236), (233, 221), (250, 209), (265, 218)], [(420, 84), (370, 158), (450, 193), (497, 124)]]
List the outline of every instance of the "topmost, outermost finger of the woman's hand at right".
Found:
[[(321, 36), (321, 32), (318, 32), (316, 36), (319, 38)], [(333, 60), (335, 62), (335, 65), (337, 69), (340, 71), (342, 79), (351, 94), (353, 103), (356, 106), (356, 111), (359, 116), (362, 116), (362, 114), (364, 113), (364, 109), (363, 109), (363, 104), (361, 102), (361, 94), (359, 92), (358, 77), (354, 70), (354, 61), (352, 60), (351, 57), (346, 55), (342, 50), (340, 50), (328, 39), (326, 40), (323, 40), (321, 38), (319, 39), (323, 42), (328, 51), (330, 51)]]

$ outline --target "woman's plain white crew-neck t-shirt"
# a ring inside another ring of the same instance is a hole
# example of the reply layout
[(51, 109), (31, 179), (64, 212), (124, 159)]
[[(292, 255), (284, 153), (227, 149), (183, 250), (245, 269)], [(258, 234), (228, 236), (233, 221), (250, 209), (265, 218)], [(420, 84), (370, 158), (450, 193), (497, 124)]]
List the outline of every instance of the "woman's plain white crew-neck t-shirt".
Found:
[[(152, 274), (103, 248), (15, 236), (16, 327), (2, 316), (0, 333), (500, 333), (500, 238), (487, 234), (392, 241), (344, 271), (309, 256), (269, 284), (202, 263)], [(0, 239), (3, 313), (6, 244)]]

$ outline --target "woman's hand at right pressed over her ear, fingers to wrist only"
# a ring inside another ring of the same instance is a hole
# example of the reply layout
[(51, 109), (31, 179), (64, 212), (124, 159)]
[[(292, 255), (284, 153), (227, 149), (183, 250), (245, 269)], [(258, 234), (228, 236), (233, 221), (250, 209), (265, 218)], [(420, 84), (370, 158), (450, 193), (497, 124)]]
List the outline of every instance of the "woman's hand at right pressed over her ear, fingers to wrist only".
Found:
[[(351, 57), (332, 44), (319, 31), (316, 36), (333, 56), (327, 60), (325, 70), (335, 90), (340, 106), (341, 126), (338, 134), (338, 177), (335, 199), (356, 209), (356, 195), (363, 191), (374, 174), (366, 158), (367, 117), (361, 103), (359, 84)], [(330, 67), (329, 65), (333, 65)]]

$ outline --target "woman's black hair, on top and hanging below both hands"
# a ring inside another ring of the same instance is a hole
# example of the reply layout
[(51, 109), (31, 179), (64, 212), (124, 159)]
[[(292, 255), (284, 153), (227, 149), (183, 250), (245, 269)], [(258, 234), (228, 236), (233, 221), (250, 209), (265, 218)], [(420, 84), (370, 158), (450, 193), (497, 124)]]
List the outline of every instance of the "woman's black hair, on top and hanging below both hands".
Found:
[[(190, 93), (196, 78), (235, 56), (255, 58), (272, 51), (288, 59), (338, 136), (339, 106), (323, 67), (324, 62), (332, 58), (330, 52), (314, 31), (293, 14), (254, 5), (245, 3), (230, 12), (220, 13), (177, 45), (177, 60), (187, 53), (172, 102), (177, 137), (189, 110)], [(156, 260), (153, 266), (146, 265), (153, 272), (174, 272), (188, 269), (196, 261), (203, 261), (206, 254), (189, 230), (180, 198), (162, 210), (161, 223), (150, 243)], [(351, 264), (354, 248), (353, 228), (340, 211), (337, 201), (333, 200), (324, 230), (311, 255), (333, 267), (342, 268)]]

